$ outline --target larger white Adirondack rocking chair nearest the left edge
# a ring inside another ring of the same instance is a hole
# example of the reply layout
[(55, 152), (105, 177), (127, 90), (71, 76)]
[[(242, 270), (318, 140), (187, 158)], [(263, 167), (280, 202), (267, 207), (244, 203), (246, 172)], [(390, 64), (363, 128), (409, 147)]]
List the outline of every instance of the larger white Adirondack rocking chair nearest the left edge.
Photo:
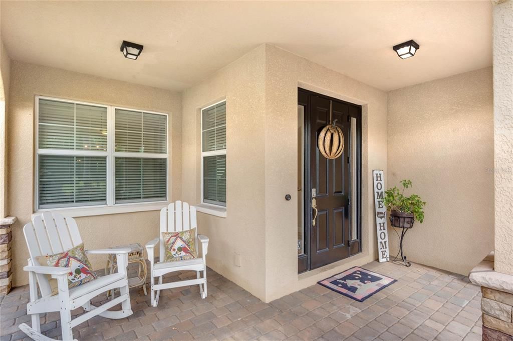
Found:
[[(34, 340), (51, 340), (41, 334), (40, 314), (47, 312), (61, 313), (63, 340), (72, 340), (72, 328), (96, 315), (124, 318), (132, 314), (126, 269), (129, 249), (86, 250), (87, 254), (116, 254), (118, 272), (68, 289), (70, 268), (42, 266), (38, 263), (37, 257), (63, 252), (80, 245), (82, 238), (75, 220), (57, 213), (44, 212), (26, 224), (23, 233), (30, 253), (28, 266), (23, 269), (29, 272), (30, 302), (27, 303), (27, 314), (32, 315), (32, 328), (21, 324), (19, 329), (28, 336)], [(50, 276), (57, 280), (58, 294), (52, 295)], [(41, 295), (38, 294), (37, 287)], [(120, 296), (98, 307), (91, 304), (90, 300), (93, 297), (112, 289), (120, 289)], [(121, 310), (107, 310), (120, 303)], [(71, 310), (80, 307), (86, 312), (71, 319)]]

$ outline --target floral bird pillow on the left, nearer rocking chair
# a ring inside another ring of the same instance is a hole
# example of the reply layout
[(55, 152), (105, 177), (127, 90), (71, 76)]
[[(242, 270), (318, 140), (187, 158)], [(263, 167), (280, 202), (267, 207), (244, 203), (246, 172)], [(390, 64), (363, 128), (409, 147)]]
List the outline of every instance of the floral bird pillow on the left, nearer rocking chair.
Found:
[(75, 246), (68, 251), (44, 256), (49, 266), (70, 268), (68, 272), (68, 288), (74, 288), (97, 278), (87, 259), (84, 244)]

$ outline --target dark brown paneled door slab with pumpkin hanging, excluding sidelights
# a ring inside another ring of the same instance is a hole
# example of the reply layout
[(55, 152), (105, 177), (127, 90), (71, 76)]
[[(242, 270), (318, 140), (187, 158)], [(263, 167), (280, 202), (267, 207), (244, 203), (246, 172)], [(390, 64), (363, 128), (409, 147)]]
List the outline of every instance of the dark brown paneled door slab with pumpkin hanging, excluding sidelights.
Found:
[[(326, 159), (317, 146), (319, 133), (330, 123), (330, 103), (331, 121), (344, 134), (344, 151), (334, 160)], [(319, 96), (311, 96), (310, 105), (309, 189), (318, 209), (310, 238), (313, 269), (349, 257), (349, 106)]]

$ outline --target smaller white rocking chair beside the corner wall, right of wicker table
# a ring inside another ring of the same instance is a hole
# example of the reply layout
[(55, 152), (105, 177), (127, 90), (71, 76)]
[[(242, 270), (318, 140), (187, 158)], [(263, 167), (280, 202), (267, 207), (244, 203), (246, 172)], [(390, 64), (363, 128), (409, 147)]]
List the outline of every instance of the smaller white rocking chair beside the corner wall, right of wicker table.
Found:
[[(208, 238), (206, 236), (198, 235), (198, 230), (196, 230), (196, 249), (199, 249), (199, 242), (201, 242), (201, 258), (198, 257), (192, 260), (165, 262), (165, 244), (162, 237), (162, 232), (179, 232), (198, 227), (198, 223), (196, 222), (196, 208), (194, 206), (189, 206), (186, 202), (182, 203), (181, 201), (176, 201), (175, 203), (170, 203), (168, 207), (164, 207), (161, 210), (160, 218), (160, 236), (146, 244), (146, 251), (148, 252), (148, 259), (150, 261), (151, 304), (153, 307), (156, 307), (159, 304), (160, 291), (163, 289), (194, 284), (200, 285), (201, 298), (204, 299), (207, 297), (206, 255), (208, 252)], [(160, 261), (155, 264), (153, 251), (159, 241)], [(162, 276), (166, 273), (181, 270), (196, 271), (196, 279), (171, 283), (162, 282)], [(203, 277), (200, 276), (200, 271), (203, 271)], [(159, 284), (155, 284), (155, 277), (159, 278)]]

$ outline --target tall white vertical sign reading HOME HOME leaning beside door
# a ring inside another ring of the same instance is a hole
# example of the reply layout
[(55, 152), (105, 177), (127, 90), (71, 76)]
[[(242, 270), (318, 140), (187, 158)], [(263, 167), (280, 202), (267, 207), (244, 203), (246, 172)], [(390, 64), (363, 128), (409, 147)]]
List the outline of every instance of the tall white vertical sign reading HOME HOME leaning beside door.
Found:
[(378, 231), (378, 259), (381, 262), (390, 260), (388, 253), (388, 230), (386, 226), (386, 207), (383, 204), (385, 195), (384, 175), (381, 169), (372, 171), (374, 182), (374, 203), (376, 205), (376, 229)]

